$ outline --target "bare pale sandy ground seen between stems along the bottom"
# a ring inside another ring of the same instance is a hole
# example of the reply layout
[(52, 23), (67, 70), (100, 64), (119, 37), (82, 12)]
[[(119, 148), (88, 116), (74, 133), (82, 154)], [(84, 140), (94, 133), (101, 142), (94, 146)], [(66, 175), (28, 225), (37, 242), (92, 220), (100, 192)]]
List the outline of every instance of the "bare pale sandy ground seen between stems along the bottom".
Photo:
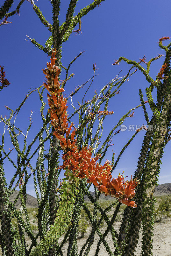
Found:
[[(117, 232), (119, 231), (119, 226), (120, 226), (120, 222), (116, 222), (115, 228), (116, 228)], [(78, 252), (80, 252), (82, 245), (86, 242), (86, 240), (90, 234), (90, 231), (91, 231), (91, 228), (88, 229), (86, 235), (82, 239), (77, 240)], [(103, 233), (104, 231), (105, 231), (105, 228), (101, 228), (101, 232)], [(154, 233), (153, 255), (154, 256), (171, 256), (171, 220), (167, 219), (160, 223), (155, 223), (153, 233)], [(63, 237), (61, 237), (59, 239), (59, 244), (61, 244), (60, 242), (62, 241), (62, 238)], [(142, 236), (140, 234), (140, 240), (139, 240), (139, 243), (137, 246), (137, 251), (135, 253), (135, 256), (141, 256), (141, 239), (142, 239)], [(98, 240), (99, 240), (99, 237), (96, 234), (88, 256), (94, 256)], [(106, 236), (105, 240), (109, 244), (110, 250), (112, 252), (114, 252), (112, 238), (111, 238), (110, 233)], [(68, 248), (68, 243), (66, 243), (62, 248), (62, 252), (63, 252), (64, 256), (67, 255), (67, 248)], [(99, 256), (101, 256), (101, 255), (108, 256), (109, 255), (108, 252), (106, 251), (106, 249), (104, 248), (103, 244), (101, 244), (101, 246), (100, 246), (100, 251), (99, 251), (98, 255)]]

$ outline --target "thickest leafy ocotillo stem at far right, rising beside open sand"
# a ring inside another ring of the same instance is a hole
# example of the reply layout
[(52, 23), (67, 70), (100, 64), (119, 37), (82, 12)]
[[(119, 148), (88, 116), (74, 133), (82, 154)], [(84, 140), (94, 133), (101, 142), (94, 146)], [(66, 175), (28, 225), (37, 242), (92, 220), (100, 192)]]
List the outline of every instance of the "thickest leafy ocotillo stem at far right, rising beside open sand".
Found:
[[(153, 192), (157, 183), (157, 176), (160, 171), (160, 159), (163, 155), (163, 149), (165, 147), (165, 140), (167, 139), (167, 128), (170, 124), (170, 108), (171, 108), (171, 72), (170, 72), (170, 60), (171, 60), (171, 47), (169, 47), (167, 54), (167, 68), (165, 70), (165, 97), (161, 111), (161, 117), (159, 118), (158, 125), (160, 130), (155, 132), (153, 143), (149, 152), (149, 161), (146, 168), (146, 180), (145, 180), (145, 194), (143, 203), (143, 242), (142, 242), (142, 255), (152, 255), (152, 237), (153, 237)], [(156, 120), (157, 121), (157, 120)]]

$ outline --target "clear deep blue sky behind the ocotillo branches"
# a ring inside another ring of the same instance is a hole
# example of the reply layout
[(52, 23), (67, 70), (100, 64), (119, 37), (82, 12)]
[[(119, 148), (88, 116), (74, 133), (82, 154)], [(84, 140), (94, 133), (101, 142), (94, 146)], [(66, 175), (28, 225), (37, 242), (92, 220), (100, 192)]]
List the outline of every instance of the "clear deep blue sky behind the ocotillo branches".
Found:
[[(93, 1), (93, 0), (92, 0)], [(1, 1), (2, 2), (2, 1)], [(84, 6), (90, 4), (91, 1), (78, 1), (75, 8), (75, 14), (80, 11)], [(35, 1), (39, 6), (46, 19), (52, 23), (52, 8), (50, 1)], [(61, 1), (61, 14), (60, 24), (64, 22), (66, 12), (68, 9), (69, 1)], [(14, 10), (14, 4), (11, 10)], [(92, 64), (96, 62), (97, 70), (94, 84), (92, 85), (89, 93), (86, 94), (84, 100), (91, 99), (94, 91), (100, 91), (103, 85), (107, 84), (114, 78), (122, 69), (120, 76), (126, 74), (131, 67), (127, 63), (120, 62), (119, 66), (112, 66), (114, 60), (118, 60), (120, 56), (124, 56), (130, 60), (139, 61), (146, 55), (147, 61), (159, 54), (165, 54), (164, 50), (158, 46), (159, 38), (162, 36), (171, 36), (171, 3), (169, 0), (156, 1), (114, 1), (106, 0), (102, 2), (99, 8), (95, 8), (89, 14), (82, 18), (82, 35), (72, 33), (69, 40), (63, 44), (62, 49), (62, 63), (68, 66), (71, 60), (79, 54), (80, 51), (85, 51), (78, 60), (74, 62), (70, 68), (70, 73), (74, 73), (74, 77), (70, 79), (65, 87), (65, 93), (68, 96), (70, 92), (75, 90), (75, 86), (81, 85), (87, 81), (93, 73)], [(20, 8), (20, 16), (12, 16), (8, 19), (12, 24), (3, 25), (1, 30), (1, 48), (0, 48), (0, 65), (4, 66), (6, 71), (6, 78), (11, 83), (10, 86), (4, 88), (0, 93), (0, 115), (8, 115), (4, 105), (12, 109), (18, 107), (19, 103), (24, 99), (25, 94), (29, 91), (30, 87), (34, 89), (39, 87), (44, 82), (44, 74), (42, 68), (45, 68), (46, 61), (49, 57), (36, 48), (30, 42), (25, 41), (26, 35), (36, 39), (40, 44), (46, 42), (50, 32), (41, 24), (38, 16), (32, 9), (31, 3), (25, 1)], [(78, 28), (78, 25), (75, 29)], [(170, 40), (164, 42), (169, 43)], [(159, 72), (164, 57), (152, 63), (150, 69), (150, 76), (155, 79)], [(145, 64), (142, 64), (145, 67)], [(62, 75), (61, 75), (62, 78)], [(144, 78), (140, 71), (137, 71), (128, 82), (125, 82), (121, 87), (120, 93), (110, 100), (108, 111), (113, 110), (115, 113), (112, 116), (107, 116), (104, 122), (104, 134), (102, 141), (106, 134), (112, 129), (114, 124), (123, 116), (130, 108), (136, 107), (140, 104), (139, 88), (142, 89), (145, 95), (145, 88), (149, 83)], [(77, 100), (81, 102), (81, 97), (87, 90), (88, 85), (82, 89), (79, 97), (75, 97), (73, 102), (77, 107)], [(64, 93), (64, 95), (65, 95)], [(153, 93), (155, 98), (155, 92)], [(146, 96), (144, 97), (146, 100)], [(44, 94), (44, 101), (47, 102), (46, 93)], [(69, 101), (69, 105), (71, 102)], [(35, 92), (29, 97), (25, 106), (21, 110), (16, 124), (20, 129), (25, 132), (29, 124), (29, 116), (31, 110), (34, 112), (32, 115), (32, 128), (28, 142), (34, 138), (38, 131), (41, 122), (39, 115), (39, 99)], [(46, 108), (48, 108), (46, 106)], [(148, 108), (149, 110), (149, 108)], [(72, 108), (68, 107), (68, 113), (72, 113)], [(124, 122), (125, 125), (142, 125), (146, 124), (143, 116), (142, 108), (134, 111), (134, 117), (127, 118)], [(150, 113), (150, 111), (149, 111)], [(150, 113), (151, 115), (151, 113)], [(73, 119), (77, 124), (78, 119)], [(0, 124), (0, 133), (2, 136), (3, 126)], [(135, 128), (134, 128), (135, 132)], [(111, 146), (106, 154), (105, 159), (111, 160), (112, 149), (115, 159), (118, 153), (123, 148), (125, 143), (131, 138), (133, 131), (120, 132), (113, 137)], [(7, 132), (6, 132), (7, 133)], [(121, 156), (117, 168), (113, 173), (113, 177), (118, 175), (118, 172), (125, 171), (125, 175), (129, 178), (134, 173), (139, 158), (139, 152), (142, 145), (144, 131), (139, 132), (137, 137), (129, 145), (125, 153)], [(0, 137), (1, 137), (0, 136)], [(23, 138), (21, 137), (21, 145)], [(12, 148), (8, 136), (6, 136), (5, 148)], [(170, 158), (171, 142), (165, 148), (164, 156), (162, 159), (161, 171), (159, 176), (159, 184), (171, 182), (171, 158)], [(11, 155), (15, 157), (15, 153)], [(104, 159), (104, 160), (105, 160)], [(14, 160), (16, 162), (16, 160)], [(35, 161), (35, 159), (34, 159)], [(5, 174), (7, 183), (9, 184), (14, 169), (11, 164), (4, 161)], [(63, 177), (63, 176), (62, 176)], [(91, 187), (93, 190), (93, 187)], [(28, 183), (27, 193), (35, 196), (33, 179), (31, 178)]]

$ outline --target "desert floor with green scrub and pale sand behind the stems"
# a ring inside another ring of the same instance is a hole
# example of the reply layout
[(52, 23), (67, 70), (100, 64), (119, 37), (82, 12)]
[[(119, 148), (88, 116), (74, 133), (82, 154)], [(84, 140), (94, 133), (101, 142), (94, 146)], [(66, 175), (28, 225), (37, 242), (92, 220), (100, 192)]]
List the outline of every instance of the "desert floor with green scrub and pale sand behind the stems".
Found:
[[(87, 199), (86, 199), (87, 200)], [(86, 201), (85, 200), (85, 201)], [(103, 209), (108, 207), (113, 201), (111, 200), (100, 200), (99, 204)], [(93, 204), (90, 201), (86, 201), (86, 205), (88, 206), (89, 210), (93, 212)], [(18, 205), (19, 206), (19, 205)], [(122, 205), (120, 208), (120, 212), (117, 215), (116, 221), (113, 223), (113, 227), (116, 229), (117, 233), (119, 232), (119, 226), (122, 219), (122, 214), (124, 211), (125, 205)], [(107, 212), (107, 216), (109, 219), (111, 219), (111, 216), (113, 215), (113, 212), (115, 210), (115, 206), (113, 206), (110, 211)], [(36, 214), (38, 213), (38, 208), (30, 208), (28, 209), (28, 215), (31, 223), (31, 228), (33, 230), (33, 233), (36, 235), (38, 232), (38, 221)], [(100, 212), (97, 212), (97, 220), (99, 220), (101, 217)], [(164, 195), (164, 196), (156, 196), (156, 203), (155, 203), (155, 223), (154, 223), (154, 236), (153, 236), (153, 255), (154, 256), (171, 256), (171, 195)], [(23, 214), (23, 219), (25, 219), (25, 216)], [(13, 225), (16, 222), (16, 219), (14, 218), (12, 220)], [(103, 234), (106, 230), (106, 222), (103, 220), (100, 225), (100, 231)], [(79, 228), (78, 228), (78, 239), (77, 239), (77, 245), (78, 245), (78, 252), (81, 250), (82, 246), (86, 242), (87, 238), (89, 237), (89, 234), (91, 232), (91, 224), (89, 222), (89, 218), (86, 214), (86, 212), (82, 209), (81, 210), (81, 218), (79, 221)], [(31, 241), (26, 236), (26, 243), (28, 244), (28, 247), (31, 244)], [(59, 239), (59, 245), (61, 244), (63, 240), (62, 236)], [(137, 251), (135, 253), (135, 256), (141, 255), (141, 239), (142, 236), (140, 234), (139, 243), (137, 246)], [(89, 256), (93, 256), (96, 252), (96, 246), (98, 243), (99, 237), (96, 233), (92, 247), (89, 251)], [(111, 234), (108, 233), (108, 235), (105, 238), (106, 242), (108, 243), (110, 250), (114, 252), (114, 246), (112, 243)], [(67, 255), (67, 249), (68, 249), (68, 241), (62, 246), (62, 252), (63, 255)], [(1, 255), (1, 253), (0, 253)], [(100, 255), (108, 256), (108, 252), (104, 248), (103, 244), (100, 245)], [(132, 255), (130, 255), (132, 256)]]

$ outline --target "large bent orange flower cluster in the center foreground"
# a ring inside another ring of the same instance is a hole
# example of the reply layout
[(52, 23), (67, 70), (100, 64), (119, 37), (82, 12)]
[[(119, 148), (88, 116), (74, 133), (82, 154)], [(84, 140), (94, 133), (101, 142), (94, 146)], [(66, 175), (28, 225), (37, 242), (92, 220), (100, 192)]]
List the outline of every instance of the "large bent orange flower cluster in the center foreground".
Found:
[[(67, 100), (63, 98), (61, 92), (65, 90), (60, 88), (58, 81), (58, 75), (61, 70), (54, 66), (55, 64), (56, 49), (53, 50), (51, 63), (47, 62), (47, 68), (43, 69), (43, 73), (46, 75), (47, 83), (44, 83), (46, 89), (50, 92), (47, 93), (49, 113), (51, 114), (51, 124), (55, 128), (53, 135), (60, 140), (61, 148), (64, 150), (62, 159), (63, 164), (59, 166), (64, 170), (70, 170), (77, 178), (87, 178), (88, 183), (93, 183), (96, 188), (104, 193), (105, 196), (110, 195), (115, 197), (119, 202), (129, 205), (131, 207), (137, 207), (134, 201), (131, 199), (135, 195), (135, 187), (138, 184), (138, 180), (125, 181), (125, 176), (118, 175), (117, 179), (112, 179), (111, 169), (112, 165), (109, 161), (101, 165), (96, 163), (100, 159), (100, 155), (92, 157), (92, 148), (83, 146), (82, 150), (77, 148), (77, 139), (75, 139), (76, 129), (72, 129), (72, 124), (68, 128), (67, 122)], [(65, 135), (65, 137), (64, 137)]]

